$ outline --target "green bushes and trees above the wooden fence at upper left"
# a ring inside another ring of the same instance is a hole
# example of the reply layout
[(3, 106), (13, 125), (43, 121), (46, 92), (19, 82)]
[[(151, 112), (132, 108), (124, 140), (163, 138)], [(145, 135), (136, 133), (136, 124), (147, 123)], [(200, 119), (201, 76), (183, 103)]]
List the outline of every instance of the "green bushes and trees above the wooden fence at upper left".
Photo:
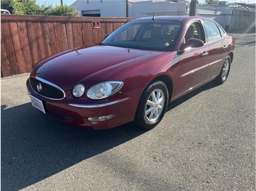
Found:
[(74, 7), (38, 5), (36, 0), (1, 0), (1, 9), (6, 9), (11, 14), (79, 16), (79, 12)]

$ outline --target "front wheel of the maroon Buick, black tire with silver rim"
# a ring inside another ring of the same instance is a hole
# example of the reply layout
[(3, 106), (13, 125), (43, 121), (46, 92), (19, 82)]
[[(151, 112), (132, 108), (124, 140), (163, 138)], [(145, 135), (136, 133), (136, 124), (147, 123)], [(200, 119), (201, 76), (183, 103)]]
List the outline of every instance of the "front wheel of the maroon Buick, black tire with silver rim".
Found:
[[(153, 97), (153, 92), (156, 99)], [(158, 93), (160, 96), (158, 96)], [(155, 81), (148, 85), (140, 97), (138, 108), (134, 117), (135, 125), (143, 129), (154, 128), (164, 117), (169, 102), (168, 96), (168, 89), (164, 82)], [(159, 101), (156, 101), (158, 97)], [(156, 104), (153, 106), (152, 102)], [(148, 103), (150, 103), (150, 105)], [(146, 114), (146, 110), (151, 112)]]

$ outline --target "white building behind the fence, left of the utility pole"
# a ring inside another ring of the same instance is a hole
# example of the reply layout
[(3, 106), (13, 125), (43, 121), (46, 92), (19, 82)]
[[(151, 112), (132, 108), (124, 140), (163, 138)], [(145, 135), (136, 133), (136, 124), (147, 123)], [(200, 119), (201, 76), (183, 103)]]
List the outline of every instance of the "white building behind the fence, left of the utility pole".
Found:
[(76, 0), (72, 5), (80, 12), (80, 16), (140, 18), (153, 16), (185, 15), (186, 2), (179, 0)]

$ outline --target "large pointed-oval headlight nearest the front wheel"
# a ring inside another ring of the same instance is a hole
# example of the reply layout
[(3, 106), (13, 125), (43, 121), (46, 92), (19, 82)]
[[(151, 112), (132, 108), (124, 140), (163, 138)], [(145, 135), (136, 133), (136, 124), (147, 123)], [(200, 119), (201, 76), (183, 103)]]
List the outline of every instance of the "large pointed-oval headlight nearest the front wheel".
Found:
[(87, 97), (90, 99), (104, 99), (116, 93), (123, 86), (123, 82), (109, 81), (96, 84), (87, 91)]

